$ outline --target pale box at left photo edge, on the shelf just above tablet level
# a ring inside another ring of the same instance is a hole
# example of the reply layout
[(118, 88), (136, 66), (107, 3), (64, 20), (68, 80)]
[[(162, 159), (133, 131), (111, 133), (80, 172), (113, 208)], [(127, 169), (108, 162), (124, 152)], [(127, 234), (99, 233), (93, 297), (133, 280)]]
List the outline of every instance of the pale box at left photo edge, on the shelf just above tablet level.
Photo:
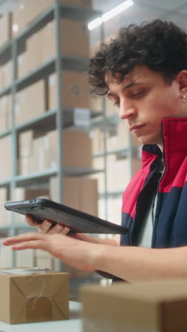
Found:
[(3, 162), (0, 164), (0, 181), (11, 177), (11, 135), (0, 138), (0, 151)]

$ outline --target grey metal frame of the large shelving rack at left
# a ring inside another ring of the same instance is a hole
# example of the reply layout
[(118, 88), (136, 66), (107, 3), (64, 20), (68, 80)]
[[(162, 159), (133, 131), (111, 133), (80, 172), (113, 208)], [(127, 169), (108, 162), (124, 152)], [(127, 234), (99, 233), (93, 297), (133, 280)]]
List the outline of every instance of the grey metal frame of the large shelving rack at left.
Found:
[[(52, 6), (48, 7), (45, 12), (40, 14), (39, 17), (35, 18), (29, 26), (27, 26), (21, 33), (16, 35), (16, 37), (9, 40), (5, 45), (0, 48), (0, 59), (2, 62), (6, 62), (8, 60), (12, 60), (12, 82), (11, 85), (6, 87), (0, 92), (0, 97), (6, 94), (11, 95), (12, 100), (12, 109), (11, 109), (11, 128), (0, 133), (0, 139), (11, 135), (11, 159), (12, 159), (12, 172), (11, 178), (4, 179), (0, 181), (0, 187), (9, 187), (10, 194), (12, 194), (13, 189), (18, 186), (26, 186), (27, 184), (37, 182), (38, 179), (46, 180), (49, 179), (52, 175), (57, 175), (58, 181), (58, 196), (60, 201), (63, 201), (62, 197), (62, 186), (61, 184), (64, 175), (91, 175), (94, 172), (103, 172), (103, 170), (92, 170), (92, 169), (79, 169), (79, 168), (67, 168), (63, 167), (62, 160), (62, 128), (68, 128), (69, 126), (73, 126), (73, 118), (74, 118), (74, 109), (64, 109), (62, 104), (62, 68), (63, 70), (74, 70), (84, 72), (86, 65), (89, 63), (89, 59), (81, 58), (81, 57), (70, 57), (64, 56), (61, 54), (60, 50), (60, 19), (61, 18), (69, 18), (77, 21), (91, 21), (92, 19), (99, 16), (98, 11), (94, 11), (92, 9), (86, 9), (81, 6), (67, 6), (65, 4), (55, 3)], [(56, 56), (50, 59), (49, 61), (42, 64), (40, 67), (35, 68), (33, 72), (28, 73), (25, 77), (21, 79), (17, 78), (17, 57), (20, 52), (20, 44), (27, 40), (30, 35), (36, 33), (43, 26), (45, 26), (50, 21), (56, 21), (56, 40), (57, 40), (57, 49)], [(5, 59), (5, 61), (4, 61)], [(38, 116), (37, 118), (33, 118), (30, 121), (22, 123), (19, 126), (15, 125), (15, 100), (16, 100), (16, 92), (21, 89), (28, 87), (30, 84), (33, 84), (41, 79), (42, 77), (46, 77), (52, 72), (57, 73), (57, 109), (48, 110), (42, 116)], [(91, 111), (91, 118), (94, 118), (98, 115), (98, 111)], [(60, 142), (57, 150), (57, 165), (58, 167), (45, 170), (44, 172), (38, 172), (29, 174), (28, 176), (18, 175), (17, 172), (17, 138), (18, 133), (21, 131), (26, 131), (31, 128), (42, 128), (45, 127), (47, 130), (52, 130), (57, 128), (58, 141)], [(10, 199), (11, 199), (10, 195)], [(11, 224), (10, 226), (0, 226), (1, 231), (6, 231), (8, 236), (16, 235), (18, 229), (24, 230), (28, 229), (29, 226), (16, 225), (14, 223), (13, 214), (11, 216)], [(12, 256), (12, 265), (15, 266), (16, 256), (13, 252)]]

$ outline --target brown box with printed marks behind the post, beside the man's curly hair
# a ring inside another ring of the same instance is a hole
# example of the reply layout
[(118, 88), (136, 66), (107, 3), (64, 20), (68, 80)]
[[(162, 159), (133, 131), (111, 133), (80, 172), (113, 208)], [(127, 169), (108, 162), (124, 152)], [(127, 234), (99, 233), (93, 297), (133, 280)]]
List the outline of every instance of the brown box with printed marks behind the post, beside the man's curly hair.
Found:
[[(89, 86), (86, 74), (62, 72), (62, 106), (67, 108), (90, 109)], [(48, 79), (48, 109), (57, 108), (57, 75)]]

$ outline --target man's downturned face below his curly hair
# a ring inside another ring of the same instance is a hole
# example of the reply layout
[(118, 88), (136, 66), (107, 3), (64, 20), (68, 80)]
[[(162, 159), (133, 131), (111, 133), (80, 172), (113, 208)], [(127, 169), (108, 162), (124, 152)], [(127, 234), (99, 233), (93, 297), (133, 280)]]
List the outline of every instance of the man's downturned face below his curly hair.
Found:
[(135, 67), (120, 84), (106, 74), (106, 83), (108, 98), (118, 106), (120, 118), (126, 119), (132, 135), (142, 144), (162, 147), (163, 118), (187, 116), (178, 80), (167, 83), (162, 74), (146, 66)]

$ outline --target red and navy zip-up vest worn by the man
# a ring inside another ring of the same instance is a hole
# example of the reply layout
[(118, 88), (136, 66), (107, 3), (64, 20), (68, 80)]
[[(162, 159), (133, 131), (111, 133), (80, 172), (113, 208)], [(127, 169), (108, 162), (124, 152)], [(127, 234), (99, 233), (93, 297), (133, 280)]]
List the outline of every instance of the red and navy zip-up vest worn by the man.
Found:
[[(128, 233), (120, 245), (135, 245), (149, 199), (157, 190), (152, 248), (187, 245), (187, 118), (166, 118), (162, 122), (164, 152), (157, 145), (142, 148), (142, 168), (123, 194), (122, 225)], [(164, 173), (157, 179), (164, 157)], [(119, 280), (114, 277), (114, 280)]]

